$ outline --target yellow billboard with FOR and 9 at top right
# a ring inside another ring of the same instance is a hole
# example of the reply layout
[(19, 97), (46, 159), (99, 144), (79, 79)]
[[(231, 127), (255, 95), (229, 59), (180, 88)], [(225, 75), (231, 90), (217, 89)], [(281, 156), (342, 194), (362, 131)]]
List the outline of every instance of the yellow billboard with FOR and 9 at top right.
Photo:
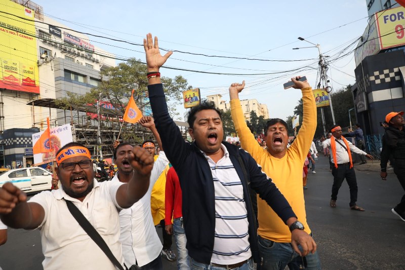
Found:
[(405, 44), (405, 8), (398, 7), (377, 13), (381, 49)]

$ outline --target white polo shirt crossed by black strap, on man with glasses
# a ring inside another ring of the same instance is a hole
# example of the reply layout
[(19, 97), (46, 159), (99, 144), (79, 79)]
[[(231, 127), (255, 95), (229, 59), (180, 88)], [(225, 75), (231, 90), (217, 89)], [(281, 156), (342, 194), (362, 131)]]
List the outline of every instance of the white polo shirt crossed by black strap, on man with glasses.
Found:
[(121, 184), (111, 181), (98, 183), (94, 180), (94, 188), (83, 202), (68, 196), (63, 188), (43, 191), (29, 200), (45, 210), (44, 221), (38, 226), (45, 270), (116, 269), (69, 212), (65, 200), (73, 202), (97, 229), (115, 258), (124, 263), (119, 242), (118, 211), (121, 208), (116, 201), (116, 192)]

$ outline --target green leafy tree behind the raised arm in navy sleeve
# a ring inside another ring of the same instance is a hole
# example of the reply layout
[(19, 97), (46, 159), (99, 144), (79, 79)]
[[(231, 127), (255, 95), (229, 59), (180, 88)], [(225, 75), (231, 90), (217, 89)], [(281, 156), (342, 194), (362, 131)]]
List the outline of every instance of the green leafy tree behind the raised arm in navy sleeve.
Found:
[[(98, 100), (105, 101), (111, 103), (115, 108), (115, 110), (110, 110), (111, 113), (115, 114), (114, 117), (107, 118), (107, 121), (112, 121), (111, 119), (118, 121), (118, 118), (125, 112), (132, 90), (134, 90), (134, 100), (141, 111), (150, 105), (147, 99), (148, 80), (146, 73), (146, 65), (135, 58), (131, 58), (125, 63), (101, 70), (101, 82), (98, 87), (91, 89), (90, 92), (84, 95), (67, 92), (66, 97), (57, 100), (56, 103), (66, 109), (70, 108), (71, 105), (83, 107), (83, 104), (95, 108)], [(169, 112), (174, 117), (178, 115), (176, 106), (181, 104), (182, 91), (187, 89), (187, 80), (179, 75), (175, 78), (161, 77), (161, 81), (168, 100)], [(136, 135), (139, 132), (129, 128), (131, 126), (127, 123), (123, 126), (121, 132), (123, 138), (139, 141)]]

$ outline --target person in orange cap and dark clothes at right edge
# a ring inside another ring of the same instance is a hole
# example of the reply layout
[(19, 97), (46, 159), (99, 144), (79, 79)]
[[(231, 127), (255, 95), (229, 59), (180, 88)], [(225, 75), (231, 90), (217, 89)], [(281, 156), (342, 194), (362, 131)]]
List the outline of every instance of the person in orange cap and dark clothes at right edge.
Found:
[[(403, 111), (390, 112), (385, 117), (388, 127), (382, 139), (381, 149), (381, 173), (383, 180), (387, 179), (387, 163), (392, 155), (395, 162), (392, 163), (394, 173), (399, 180), (403, 190), (405, 190), (405, 120), (402, 117)], [(397, 215), (402, 221), (405, 221), (405, 195), (401, 202), (391, 209), (392, 213)]]

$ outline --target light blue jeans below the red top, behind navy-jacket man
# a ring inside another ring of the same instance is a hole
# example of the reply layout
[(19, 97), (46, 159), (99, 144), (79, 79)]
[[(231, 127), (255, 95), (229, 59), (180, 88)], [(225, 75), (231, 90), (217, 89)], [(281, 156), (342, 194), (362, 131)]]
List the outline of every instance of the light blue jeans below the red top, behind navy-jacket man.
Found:
[(188, 258), (188, 251), (186, 249), (186, 233), (184, 232), (183, 218), (175, 218), (173, 220), (173, 235), (177, 247), (177, 269), (188, 270), (190, 263)]

